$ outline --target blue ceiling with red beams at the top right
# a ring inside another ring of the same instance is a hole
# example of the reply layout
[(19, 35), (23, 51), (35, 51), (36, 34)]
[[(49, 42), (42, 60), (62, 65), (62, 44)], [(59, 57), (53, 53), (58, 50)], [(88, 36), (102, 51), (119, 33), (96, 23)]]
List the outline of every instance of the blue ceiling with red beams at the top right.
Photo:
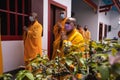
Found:
[[(98, 5), (93, 0), (83, 0), (90, 7), (94, 9), (94, 11), (98, 10)], [(120, 0), (101, 0), (104, 5), (99, 6), (99, 12), (108, 12), (110, 10), (120, 12)]]

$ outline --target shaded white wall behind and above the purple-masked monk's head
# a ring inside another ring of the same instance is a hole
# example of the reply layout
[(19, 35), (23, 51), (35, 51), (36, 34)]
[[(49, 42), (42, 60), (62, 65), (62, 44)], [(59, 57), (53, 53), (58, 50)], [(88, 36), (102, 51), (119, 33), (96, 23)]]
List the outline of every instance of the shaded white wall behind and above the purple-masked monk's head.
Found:
[(97, 40), (98, 14), (95, 13), (83, 0), (73, 0), (72, 6), (72, 11), (75, 13), (77, 23), (82, 27), (88, 25), (92, 40)]

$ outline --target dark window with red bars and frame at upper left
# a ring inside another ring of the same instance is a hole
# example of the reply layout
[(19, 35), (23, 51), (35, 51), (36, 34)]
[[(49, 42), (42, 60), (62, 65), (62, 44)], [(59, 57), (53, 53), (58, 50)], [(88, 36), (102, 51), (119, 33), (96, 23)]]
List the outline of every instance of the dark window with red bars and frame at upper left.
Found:
[(28, 25), (31, 0), (0, 0), (2, 40), (22, 39), (23, 26)]

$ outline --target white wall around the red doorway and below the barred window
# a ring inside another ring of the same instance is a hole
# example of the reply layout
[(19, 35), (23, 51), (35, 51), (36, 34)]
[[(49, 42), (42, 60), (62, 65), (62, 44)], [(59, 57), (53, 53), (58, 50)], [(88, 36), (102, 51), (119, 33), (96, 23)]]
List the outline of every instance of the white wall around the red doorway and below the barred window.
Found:
[[(42, 47), (47, 50), (48, 44), (48, 0), (43, 0), (43, 37)], [(71, 16), (71, 0), (54, 0), (67, 7), (68, 17)], [(8, 72), (17, 69), (20, 65), (24, 65), (23, 54), (24, 46), (23, 41), (2, 41), (3, 53), (3, 71)]]

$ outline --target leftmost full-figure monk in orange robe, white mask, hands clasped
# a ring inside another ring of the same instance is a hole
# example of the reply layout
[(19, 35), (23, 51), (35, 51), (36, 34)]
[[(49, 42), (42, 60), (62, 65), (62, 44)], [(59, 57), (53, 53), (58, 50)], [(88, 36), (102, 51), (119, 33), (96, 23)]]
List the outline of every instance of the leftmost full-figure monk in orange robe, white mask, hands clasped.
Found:
[(33, 12), (29, 16), (30, 24), (24, 26), (24, 61), (25, 65), (39, 54), (42, 56), (42, 25), (37, 20), (37, 13)]

